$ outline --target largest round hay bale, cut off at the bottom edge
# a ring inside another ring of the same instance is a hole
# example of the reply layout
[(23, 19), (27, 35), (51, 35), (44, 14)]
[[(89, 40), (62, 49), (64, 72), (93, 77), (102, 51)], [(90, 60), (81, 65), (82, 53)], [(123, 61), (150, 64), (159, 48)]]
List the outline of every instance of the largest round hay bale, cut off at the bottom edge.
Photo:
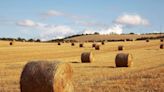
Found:
[(72, 68), (61, 62), (29, 62), (20, 79), (21, 92), (73, 92)]

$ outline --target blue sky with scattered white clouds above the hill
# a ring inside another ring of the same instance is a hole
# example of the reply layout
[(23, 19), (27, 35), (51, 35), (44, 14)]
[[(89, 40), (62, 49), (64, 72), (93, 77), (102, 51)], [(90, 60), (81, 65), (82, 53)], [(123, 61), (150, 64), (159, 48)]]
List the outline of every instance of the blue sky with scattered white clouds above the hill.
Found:
[(164, 32), (164, 0), (1, 0), (0, 38)]

